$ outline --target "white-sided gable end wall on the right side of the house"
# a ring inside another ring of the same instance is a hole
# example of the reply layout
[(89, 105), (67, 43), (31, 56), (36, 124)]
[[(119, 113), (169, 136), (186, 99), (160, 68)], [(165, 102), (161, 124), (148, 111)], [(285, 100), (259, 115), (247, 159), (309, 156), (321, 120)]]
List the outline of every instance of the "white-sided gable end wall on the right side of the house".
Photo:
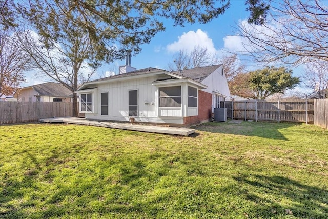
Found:
[(222, 69), (223, 66), (220, 66), (201, 82), (207, 86), (207, 88), (202, 91), (212, 93), (212, 112), (214, 112), (216, 94), (222, 95), (227, 99), (230, 99), (231, 96), (226, 74), (222, 71)]

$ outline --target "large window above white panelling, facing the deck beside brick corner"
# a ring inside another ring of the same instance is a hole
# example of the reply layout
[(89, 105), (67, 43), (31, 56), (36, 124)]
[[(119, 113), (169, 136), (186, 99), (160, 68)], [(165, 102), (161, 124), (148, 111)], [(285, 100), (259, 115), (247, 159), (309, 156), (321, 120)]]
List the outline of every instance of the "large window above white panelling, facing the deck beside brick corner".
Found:
[(181, 107), (181, 86), (159, 88), (159, 107)]

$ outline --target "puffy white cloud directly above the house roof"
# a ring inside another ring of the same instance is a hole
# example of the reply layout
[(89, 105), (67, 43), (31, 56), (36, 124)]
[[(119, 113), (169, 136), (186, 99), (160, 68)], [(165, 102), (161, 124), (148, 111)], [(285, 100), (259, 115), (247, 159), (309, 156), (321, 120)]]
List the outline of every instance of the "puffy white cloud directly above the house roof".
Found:
[(181, 36), (178, 36), (178, 41), (166, 46), (168, 52), (178, 52), (179, 50), (192, 51), (195, 46), (207, 48), (208, 52), (216, 54), (217, 51), (214, 47), (212, 39), (206, 32), (198, 29), (195, 31), (183, 32)]

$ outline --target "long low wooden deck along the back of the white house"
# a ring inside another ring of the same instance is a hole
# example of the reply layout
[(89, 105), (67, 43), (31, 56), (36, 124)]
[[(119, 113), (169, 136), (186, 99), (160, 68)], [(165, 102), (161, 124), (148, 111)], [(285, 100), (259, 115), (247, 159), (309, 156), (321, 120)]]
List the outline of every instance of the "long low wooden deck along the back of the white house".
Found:
[(40, 122), (45, 123), (71, 123), (89, 126), (100, 126), (114, 129), (124, 129), (131, 131), (152, 132), (160, 134), (174, 134), (188, 136), (195, 133), (195, 129), (190, 128), (177, 128), (177, 127), (163, 127), (163, 126), (151, 126), (151, 125), (137, 125), (130, 123), (118, 123), (109, 121), (93, 121), (86, 118), (75, 117), (60, 117), (60, 118), (42, 118)]

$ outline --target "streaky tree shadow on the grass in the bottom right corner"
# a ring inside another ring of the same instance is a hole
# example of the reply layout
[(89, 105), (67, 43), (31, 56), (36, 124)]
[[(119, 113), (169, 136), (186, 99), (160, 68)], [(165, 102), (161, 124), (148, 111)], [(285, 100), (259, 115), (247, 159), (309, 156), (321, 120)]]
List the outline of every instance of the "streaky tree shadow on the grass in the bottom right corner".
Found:
[[(246, 210), (251, 218), (280, 218), (286, 215), (328, 218), (328, 191), (325, 189), (284, 176), (253, 175), (234, 179), (243, 185), (240, 195), (254, 204)], [(276, 202), (278, 200), (288, 201), (280, 204)]]

